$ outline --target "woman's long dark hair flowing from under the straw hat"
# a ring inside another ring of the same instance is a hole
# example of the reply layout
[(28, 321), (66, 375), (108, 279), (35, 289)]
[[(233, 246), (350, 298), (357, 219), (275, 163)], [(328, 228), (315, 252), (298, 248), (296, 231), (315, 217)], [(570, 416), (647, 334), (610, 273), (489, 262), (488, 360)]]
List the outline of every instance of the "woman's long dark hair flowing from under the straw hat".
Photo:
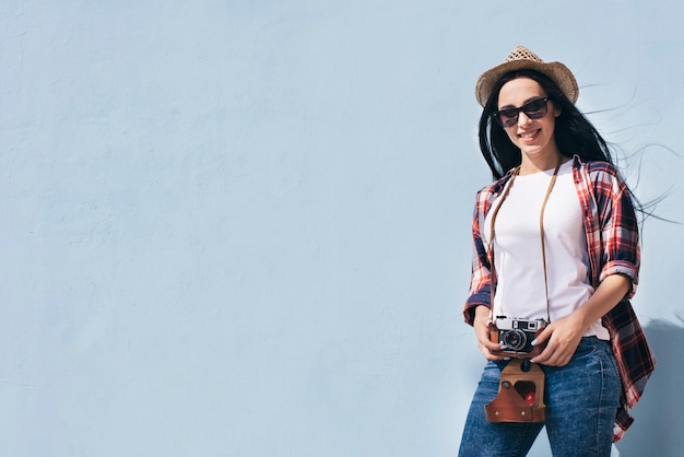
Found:
[(536, 81), (551, 102), (561, 108), (554, 136), (563, 155), (571, 157), (577, 154), (585, 162), (603, 161), (614, 164), (605, 140), (553, 80), (533, 70), (518, 70), (506, 73), (496, 82), (480, 117), (480, 151), (494, 179), (500, 178), (520, 165), (522, 160), (520, 149), (510, 141), (504, 128), (492, 119), (492, 113), (498, 109), (499, 91), (504, 84), (517, 78)]

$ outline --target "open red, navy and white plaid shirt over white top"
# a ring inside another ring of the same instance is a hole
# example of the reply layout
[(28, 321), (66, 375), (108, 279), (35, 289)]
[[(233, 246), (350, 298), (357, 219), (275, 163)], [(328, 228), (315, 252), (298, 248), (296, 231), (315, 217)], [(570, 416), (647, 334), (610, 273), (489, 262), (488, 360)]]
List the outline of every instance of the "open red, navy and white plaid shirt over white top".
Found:
[[(463, 309), (465, 323), (472, 325), (475, 307), (491, 306), (491, 273), (487, 250), (481, 227), (511, 173), (477, 192), (473, 215), (473, 265), (469, 296)], [(613, 309), (603, 316), (603, 326), (611, 335), (613, 353), (622, 380), (621, 408), (615, 417), (613, 441), (618, 441), (634, 419), (634, 408), (656, 367), (644, 330), (629, 298), (634, 295), (639, 272), (639, 234), (629, 190), (615, 167), (605, 162), (583, 164), (576, 155), (573, 176), (583, 212), (589, 250), (591, 284), (595, 289), (610, 274), (624, 274), (632, 280), (632, 290)], [(496, 286), (496, 283), (495, 283)]]

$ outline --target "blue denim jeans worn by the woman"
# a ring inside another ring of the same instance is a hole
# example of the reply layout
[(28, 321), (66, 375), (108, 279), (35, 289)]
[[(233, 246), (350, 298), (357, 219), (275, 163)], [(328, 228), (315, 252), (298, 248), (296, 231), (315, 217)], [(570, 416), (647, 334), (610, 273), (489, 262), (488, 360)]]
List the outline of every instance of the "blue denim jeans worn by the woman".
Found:
[(608, 341), (582, 338), (566, 366), (546, 374), (545, 423), (490, 423), (484, 406), (496, 397), (506, 362), (488, 362), (468, 412), (459, 457), (524, 456), (542, 427), (554, 456), (610, 456), (621, 383)]

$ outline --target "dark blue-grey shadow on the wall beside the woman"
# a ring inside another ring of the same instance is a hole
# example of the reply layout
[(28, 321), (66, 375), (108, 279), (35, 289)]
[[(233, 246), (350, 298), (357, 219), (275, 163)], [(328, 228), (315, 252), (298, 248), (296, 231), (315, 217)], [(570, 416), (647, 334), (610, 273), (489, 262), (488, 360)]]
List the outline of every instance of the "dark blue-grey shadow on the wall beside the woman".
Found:
[(617, 443), (621, 457), (681, 456), (684, 447), (684, 328), (656, 320), (645, 329), (658, 366)]

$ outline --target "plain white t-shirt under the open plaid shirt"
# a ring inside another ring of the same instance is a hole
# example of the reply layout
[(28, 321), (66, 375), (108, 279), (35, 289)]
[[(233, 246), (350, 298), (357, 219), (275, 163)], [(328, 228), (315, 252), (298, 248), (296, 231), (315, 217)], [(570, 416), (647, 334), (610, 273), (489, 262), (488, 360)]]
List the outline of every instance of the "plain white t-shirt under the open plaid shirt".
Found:
[[(539, 219), (553, 169), (517, 176), (496, 216), (494, 263), (497, 286), (494, 315), (509, 318), (546, 318), (546, 292)], [(510, 181), (509, 181), (510, 183)], [(485, 245), (494, 201), (485, 219)], [(573, 180), (573, 161), (561, 166), (544, 210), (544, 244), (551, 320), (567, 316), (593, 294), (589, 279), (589, 255), (582, 211)], [(609, 332), (597, 320), (585, 337), (608, 340)]]

